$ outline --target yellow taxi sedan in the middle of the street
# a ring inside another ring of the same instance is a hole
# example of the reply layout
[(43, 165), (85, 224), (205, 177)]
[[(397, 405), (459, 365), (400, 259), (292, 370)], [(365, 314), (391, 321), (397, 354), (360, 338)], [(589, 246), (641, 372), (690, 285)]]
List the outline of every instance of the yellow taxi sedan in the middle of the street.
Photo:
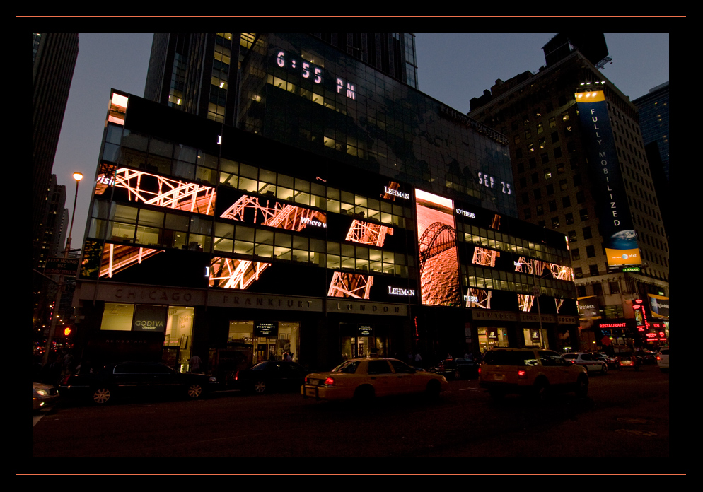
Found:
[(327, 373), (308, 374), (303, 397), (368, 400), (393, 394), (425, 393), (437, 396), (448, 388), (446, 377), (417, 370), (394, 358), (344, 361)]

